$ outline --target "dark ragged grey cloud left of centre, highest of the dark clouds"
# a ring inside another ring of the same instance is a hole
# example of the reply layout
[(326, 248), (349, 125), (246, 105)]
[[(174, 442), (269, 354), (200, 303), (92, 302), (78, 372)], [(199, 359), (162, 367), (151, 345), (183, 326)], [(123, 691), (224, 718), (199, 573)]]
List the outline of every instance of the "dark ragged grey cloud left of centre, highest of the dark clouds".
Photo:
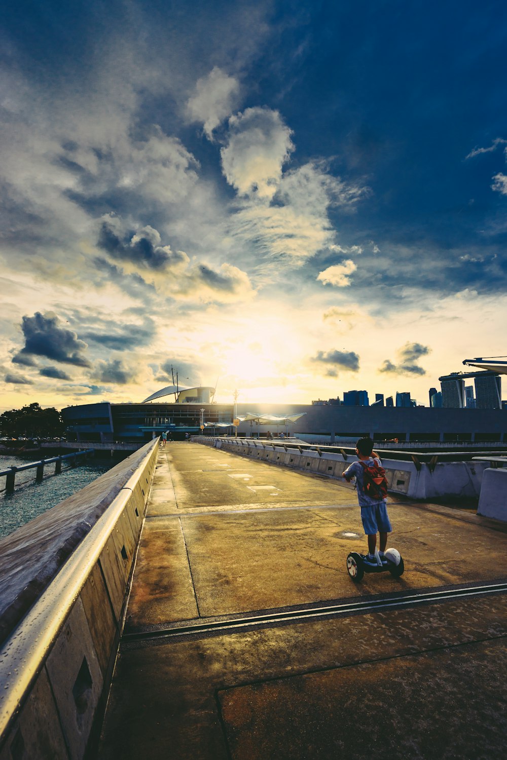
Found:
[(145, 226), (137, 233), (122, 233), (122, 223), (117, 217), (107, 217), (100, 227), (97, 245), (112, 258), (130, 261), (138, 268), (165, 270), (181, 268), (189, 263), (182, 251), (172, 251), (170, 245), (160, 245), (160, 233)]

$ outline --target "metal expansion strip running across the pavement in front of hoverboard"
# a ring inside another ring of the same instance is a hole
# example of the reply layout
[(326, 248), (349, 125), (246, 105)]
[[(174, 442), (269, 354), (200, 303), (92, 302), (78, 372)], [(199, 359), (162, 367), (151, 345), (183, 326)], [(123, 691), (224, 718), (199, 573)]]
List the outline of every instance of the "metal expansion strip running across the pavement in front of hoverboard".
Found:
[(353, 613), (382, 612), (385, 610), (399, 610), (403, 607), (414, 606), (421, 603), (439, 602), (442, 600), (456, 600), (467, 597), (480, 597), (487, 594), (502, 594), (507, 591), (507, 582), (490, 584), (486, 586), (467, 586), (464, 588), (451, 588), (447, 591), (427, 591), (423, 594), (402, 594), (388, 599), (373, 599), (365, 601), (345, 602), (325, 607), (308, 607), (299, 610), (286, 610), (285, 612), (267, 613), (257, 616), (242, 616), (235, 619), (213, 620), (201, 622), (195, 625), (173, 626), (166, 629), (126, 633), (122, 636), (121, 644), (134, 644), (135, 642), (147, 642), (157, 639), (181, 638), (211, 632), (229, 633), (241, 629), (252, 628), (273, 623), (304, 622), (312, 618), (325, 618), (346, 616)]

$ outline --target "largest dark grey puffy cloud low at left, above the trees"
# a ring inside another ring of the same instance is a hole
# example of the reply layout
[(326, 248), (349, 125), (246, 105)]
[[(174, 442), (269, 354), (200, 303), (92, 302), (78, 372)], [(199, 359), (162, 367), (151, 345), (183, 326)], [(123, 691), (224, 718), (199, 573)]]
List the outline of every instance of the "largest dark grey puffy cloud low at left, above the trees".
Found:
[(52, 312), (46, 312), (45, 315), (36, 312), (33, 317), (24, 316), (21, 329), (25, 344), (20, 353), (46, 356), (55, 362), (89, 367), (89, 361), (83, 356), (87, 344), (84, 340), (79, 340), (74, 331), (61, 325), (59, 317)]

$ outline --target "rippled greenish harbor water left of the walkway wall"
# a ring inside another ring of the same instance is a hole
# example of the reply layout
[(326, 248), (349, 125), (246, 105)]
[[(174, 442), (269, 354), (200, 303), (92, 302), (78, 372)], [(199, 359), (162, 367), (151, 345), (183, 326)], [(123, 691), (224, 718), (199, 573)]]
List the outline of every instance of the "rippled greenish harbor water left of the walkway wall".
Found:
[[(0, 470), (31, 461), (10, 455), (0, 455)], [(35, 461), (35, 459), (33, 460)], [(92, 480), (110, 470), (117, 459), (91, 458), (77, 467), (62, 465), (62, 472), (55, 475), (55, 465), (48, 464), (41, 483), (36, 483), (36, 470), (17, 473), (15, 489), (5, 492), (5, 477), (0, 479), (0, 539), (13, 533), (18, 527), (42, 515), (43, 512), (68, 499)]]

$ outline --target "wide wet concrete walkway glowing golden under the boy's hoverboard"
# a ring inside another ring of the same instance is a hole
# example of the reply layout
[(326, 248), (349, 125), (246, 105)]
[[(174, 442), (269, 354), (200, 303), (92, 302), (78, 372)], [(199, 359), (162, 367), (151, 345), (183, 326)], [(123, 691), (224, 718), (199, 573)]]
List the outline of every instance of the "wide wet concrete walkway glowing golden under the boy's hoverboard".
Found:
[(354, 584), (352, 486), (160, 448), (98, 757), (502, 758), (507, 525), (389, 512), (405, 573)]

